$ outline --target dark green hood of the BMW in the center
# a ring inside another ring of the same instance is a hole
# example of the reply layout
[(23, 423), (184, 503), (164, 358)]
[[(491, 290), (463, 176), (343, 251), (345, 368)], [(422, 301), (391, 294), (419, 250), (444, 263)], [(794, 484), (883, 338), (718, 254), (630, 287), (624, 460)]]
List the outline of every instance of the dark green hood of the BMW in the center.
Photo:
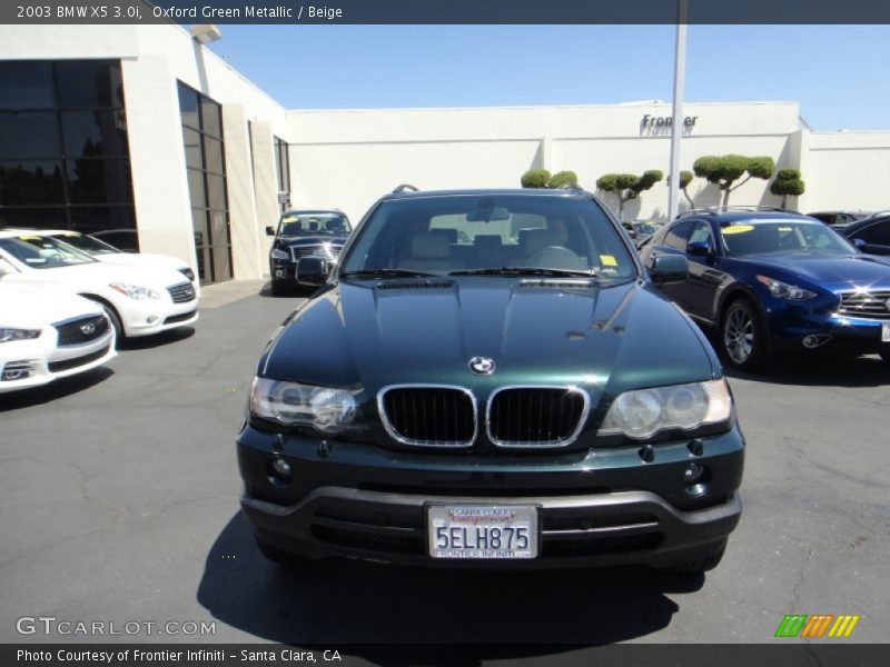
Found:
[[(370, 395), (394, 384), (485, 392), (507, 384), (627, 388), (706, 380), (720, 366), (698, 328), (641, 282), (467, 277), (344, 282), (307, 302), (267, 348), (266, 377)], [(471, 372), (472, 357), (494, 375)]]

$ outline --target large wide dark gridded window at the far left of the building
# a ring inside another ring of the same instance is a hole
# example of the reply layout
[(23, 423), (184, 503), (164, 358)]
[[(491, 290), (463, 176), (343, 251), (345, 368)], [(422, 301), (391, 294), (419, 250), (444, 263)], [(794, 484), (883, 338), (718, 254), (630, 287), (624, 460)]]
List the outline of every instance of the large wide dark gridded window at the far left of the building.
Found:
[(0, 62), (0, 225), (115, 233), (137, 250), (116, 60)]

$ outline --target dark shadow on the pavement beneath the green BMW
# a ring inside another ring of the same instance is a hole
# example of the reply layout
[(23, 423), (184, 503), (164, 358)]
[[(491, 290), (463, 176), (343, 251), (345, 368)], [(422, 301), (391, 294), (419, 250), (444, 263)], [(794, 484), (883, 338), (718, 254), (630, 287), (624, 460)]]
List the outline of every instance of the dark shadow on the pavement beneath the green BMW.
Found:
[[(330, 559), (286, 569), (259, 554), (238, 512), (207, 555), (197, 599), (220, 621), (264, 639), (350, 645), (370, 660), (396, 645), (500, 645), (492, 658), (560, 653), (664, 628), (668, 593), (698, 590), (702, 575), (649, 568), (479, 571)], [(387, 646), (388, 645), (388, 646)], [(376, 647), (376, 648), (375, 648)], [(505, 655), (505, 651), (510, 655)], [(438, 661), (447, 653), (436, 649)], [(432, 656), (431, 656), (432, 657)], [(424, 663), (426, 664), (426, 663)]]

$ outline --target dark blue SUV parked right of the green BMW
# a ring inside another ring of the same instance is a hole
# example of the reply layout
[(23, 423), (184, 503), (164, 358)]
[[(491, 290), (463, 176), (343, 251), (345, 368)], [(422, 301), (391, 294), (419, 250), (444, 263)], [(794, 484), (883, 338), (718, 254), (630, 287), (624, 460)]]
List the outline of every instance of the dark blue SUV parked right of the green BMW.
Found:
[(730, 364), (749, 370), (781, 350), (844, 346), (890, 361), (890, 262), (862, 255), (814, 218), (698, 210), (641, 252), (684, 257), (689, 277), (662, 291), (716, 327)]

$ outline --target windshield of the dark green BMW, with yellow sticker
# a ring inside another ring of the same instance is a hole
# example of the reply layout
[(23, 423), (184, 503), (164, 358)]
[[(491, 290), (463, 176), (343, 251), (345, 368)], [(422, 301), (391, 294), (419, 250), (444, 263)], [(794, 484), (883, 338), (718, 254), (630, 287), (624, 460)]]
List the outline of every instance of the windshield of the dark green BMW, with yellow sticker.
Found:
[(498, 195), (384, 201), (362, 226), (342, 275), (571, 272), (637, 275), (591, 199)]

